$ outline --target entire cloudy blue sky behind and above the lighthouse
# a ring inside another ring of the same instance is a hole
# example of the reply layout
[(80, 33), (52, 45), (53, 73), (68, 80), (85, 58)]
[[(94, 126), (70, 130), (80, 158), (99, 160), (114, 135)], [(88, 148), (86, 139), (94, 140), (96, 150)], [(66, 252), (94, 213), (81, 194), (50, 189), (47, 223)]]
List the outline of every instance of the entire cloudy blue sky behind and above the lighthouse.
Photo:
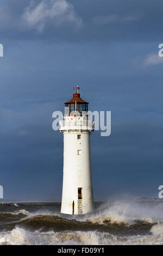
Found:
[(4, 199), (61, 199), (63, 138), (52, 113), (64, 110), (76, 84), (92, 111), (111, 111), (111, 136), (91, 135), (95, 199), (158, 196), (161, 7), (159, 0), (1, 1)]

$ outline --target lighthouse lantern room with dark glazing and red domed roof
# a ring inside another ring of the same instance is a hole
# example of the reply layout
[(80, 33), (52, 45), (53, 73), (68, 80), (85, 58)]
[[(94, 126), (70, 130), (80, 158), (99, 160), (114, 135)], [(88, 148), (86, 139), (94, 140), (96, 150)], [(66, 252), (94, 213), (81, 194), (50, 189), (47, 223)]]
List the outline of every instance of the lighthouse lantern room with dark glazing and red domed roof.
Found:
[(73, 90), (76, 92), (73, 94), (73, 97), (71, 100), (65, 102), (65, 107), (68, 107), (68, 113), (72, 112), (79, 112), (82, 114), (82, 112), (87, 112), (88, 111), (88, 105), (89, 102), (84, 101), (79, 94), (79, 87), (77, 86)]

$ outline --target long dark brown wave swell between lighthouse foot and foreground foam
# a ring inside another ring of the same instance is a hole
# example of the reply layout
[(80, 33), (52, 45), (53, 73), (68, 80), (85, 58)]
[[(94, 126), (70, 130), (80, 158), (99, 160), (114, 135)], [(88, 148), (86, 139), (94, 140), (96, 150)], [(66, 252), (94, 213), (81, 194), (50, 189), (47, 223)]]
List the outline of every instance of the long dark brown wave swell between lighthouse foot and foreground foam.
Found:
[[(157, 224), (157, 223), (155, 223)], [(15, 220), (3, 224), (3, 230), (12, 230), (16, 227), (25, 228), (30, 231), (99, 231), (108, 232), (116, 235), (145, 235), (151, 233), (154, 223), (143, 221), (135, 221), (135, 223), (127, 225), (125, 223), (104, 222), (102, 224), (92, 223), (90, 221), (77, 221), (61, 218), (60, 216), (36, 215), (32, 217), (24, 217), (21, 220)]]

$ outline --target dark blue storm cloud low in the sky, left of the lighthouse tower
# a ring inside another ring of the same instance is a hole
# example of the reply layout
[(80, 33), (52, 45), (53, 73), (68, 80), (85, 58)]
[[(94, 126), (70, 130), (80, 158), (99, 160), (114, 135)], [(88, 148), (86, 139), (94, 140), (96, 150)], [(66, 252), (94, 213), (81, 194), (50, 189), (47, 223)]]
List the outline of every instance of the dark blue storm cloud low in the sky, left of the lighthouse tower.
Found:
[(1, 133), (1, 184), (6, 199), (60, 199), (62, 138), (58, 133), (47, 115)]

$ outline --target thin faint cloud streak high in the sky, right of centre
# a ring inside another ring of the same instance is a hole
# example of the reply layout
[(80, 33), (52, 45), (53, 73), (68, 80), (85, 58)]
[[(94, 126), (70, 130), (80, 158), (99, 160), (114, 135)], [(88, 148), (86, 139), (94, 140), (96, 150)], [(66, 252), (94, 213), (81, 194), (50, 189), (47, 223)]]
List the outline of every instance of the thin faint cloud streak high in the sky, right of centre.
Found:
[(93, 18), (93, 22), (99, 25), (105, 25), (109, 23), (131, 22), (139, 19), (140, 15), (118, 16), (114, 14), (109, 16), (97, 16)]

